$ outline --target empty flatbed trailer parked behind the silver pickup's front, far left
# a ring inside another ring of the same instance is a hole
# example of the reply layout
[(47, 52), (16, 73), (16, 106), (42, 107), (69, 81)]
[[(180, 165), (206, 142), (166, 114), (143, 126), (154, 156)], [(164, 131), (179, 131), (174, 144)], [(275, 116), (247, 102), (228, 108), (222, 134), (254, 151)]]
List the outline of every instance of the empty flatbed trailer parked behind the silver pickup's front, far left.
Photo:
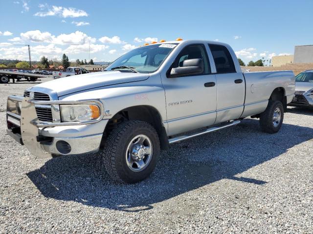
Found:
[(41, 74), (32, 74), (32, 73), (26, 73), (26, 72), (11, 72), (11, 71), (1, 71), (0, 70), (0, 82), (1, 83), (8, 83), (10, 79), (13, 83), (15, 81), (21, 81), (21, 79), (26, 81), (37, 81), (38, 78), (43, 77), (51, 77), (47, 75), (41, 75)]

